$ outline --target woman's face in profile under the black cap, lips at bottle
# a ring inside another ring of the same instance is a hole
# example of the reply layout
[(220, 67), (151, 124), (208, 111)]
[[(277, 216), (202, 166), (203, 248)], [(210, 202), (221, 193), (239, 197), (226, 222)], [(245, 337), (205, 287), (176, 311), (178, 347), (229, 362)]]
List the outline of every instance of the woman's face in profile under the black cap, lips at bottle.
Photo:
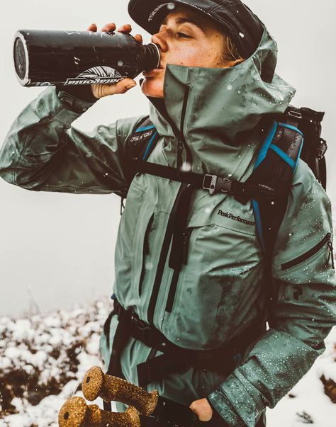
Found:
[(185, 67), (232, 67), (235, 61), (223, 62), (224, 36), (214, 23), (201, 13), (186, 7), (176, 8), (162, 22), (159, 33), (152, 36), (159, 45), (160, 67), (144, 72), (142, 92), (163, 98), (164, 74), (167, 64)]

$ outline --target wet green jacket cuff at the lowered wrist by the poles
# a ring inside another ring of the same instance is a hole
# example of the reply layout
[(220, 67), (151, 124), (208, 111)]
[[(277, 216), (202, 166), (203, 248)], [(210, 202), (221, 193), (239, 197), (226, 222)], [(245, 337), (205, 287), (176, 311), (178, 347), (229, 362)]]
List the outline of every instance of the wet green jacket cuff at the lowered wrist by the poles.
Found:
[(254, 427), (257, 416), (265, 408), (258, 407), (245, 384), (248, 385), (245, 377), (235, 370), (208, 396), (211, 405), (232, 427)]

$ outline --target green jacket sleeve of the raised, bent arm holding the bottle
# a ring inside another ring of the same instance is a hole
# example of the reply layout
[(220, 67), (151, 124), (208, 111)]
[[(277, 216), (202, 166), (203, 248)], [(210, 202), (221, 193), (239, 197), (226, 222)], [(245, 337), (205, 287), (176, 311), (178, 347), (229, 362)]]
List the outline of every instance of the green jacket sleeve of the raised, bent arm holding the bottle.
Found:
[(0, 176), (29, 190), (124, 194), (125, 141), (140, 118), (86, 133), (72, 122), (93, 103), (45, 89), (14, 121), (0, 151)]

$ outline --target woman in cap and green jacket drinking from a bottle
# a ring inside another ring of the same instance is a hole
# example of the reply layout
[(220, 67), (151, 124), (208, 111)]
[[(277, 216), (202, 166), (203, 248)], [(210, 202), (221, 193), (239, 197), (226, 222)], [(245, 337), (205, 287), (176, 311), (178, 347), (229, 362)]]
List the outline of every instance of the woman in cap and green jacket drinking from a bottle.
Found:
[[(284, 112), (294, 94), (274, 74), (276, 44), (267, 29), (239, 0), (131, 0), (129, 12), (162, 55), (141, 86), (159, 135), (148, 161), (246, 181), (264, 140), (260, 120)], [(11, 127), (1, 176), (33, 190), (128, 192), (115, 310), (101, 338), (106, 365), (190, 405), (202, 421), (262, 426), (265, 407), (307, 372), (335, 324), (331, 241), (282, 268), (332, 234), (329, 200), (300, 161), (269, 283), (251, 201), (148, 173), (129, 183), (129, 143), (143, 118), (90, 135), (71, 127), (97, 98), (134, 86), (125, 79), (89, 92), (43, 91)], [(265, 331), (270, 287), (276, 301)]]

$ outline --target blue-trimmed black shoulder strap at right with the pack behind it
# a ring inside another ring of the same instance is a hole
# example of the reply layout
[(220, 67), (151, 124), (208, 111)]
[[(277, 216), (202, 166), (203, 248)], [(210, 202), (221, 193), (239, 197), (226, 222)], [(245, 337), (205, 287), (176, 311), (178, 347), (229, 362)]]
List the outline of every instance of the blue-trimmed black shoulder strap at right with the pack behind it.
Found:
[(269, 133), (254, 171), (247, 179), (249, 183), (269, 186), (276, 193), (274, 200), (252, 200), (259, 240), (267, 256), (271, 257), (284, 220), (293, 173), (300, 157), (310, 166), (323, 188), (326, 186), (324, 156), (327, 143), (320, 137), (323, 116), (323, 112), (310, 108), (289, 106), (285, 113), (275, 116), (267, 124)]

